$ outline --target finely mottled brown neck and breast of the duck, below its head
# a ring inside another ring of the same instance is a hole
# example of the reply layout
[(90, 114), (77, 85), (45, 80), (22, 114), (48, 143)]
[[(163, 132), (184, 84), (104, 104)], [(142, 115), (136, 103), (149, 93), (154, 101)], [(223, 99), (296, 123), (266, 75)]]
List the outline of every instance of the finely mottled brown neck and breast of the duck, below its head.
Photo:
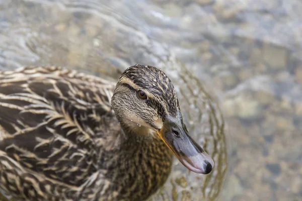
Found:
[(173, 155), (155, 131), (131, 126), (122, 124), (125, 138), (120, 155), (121, 175), (118, 173), (116, 179), (123, 180), (125, 189), (133, 189), (131, 200), (138, 200), (142, 194), (144, 198), (153, 194), (166, 182)]

